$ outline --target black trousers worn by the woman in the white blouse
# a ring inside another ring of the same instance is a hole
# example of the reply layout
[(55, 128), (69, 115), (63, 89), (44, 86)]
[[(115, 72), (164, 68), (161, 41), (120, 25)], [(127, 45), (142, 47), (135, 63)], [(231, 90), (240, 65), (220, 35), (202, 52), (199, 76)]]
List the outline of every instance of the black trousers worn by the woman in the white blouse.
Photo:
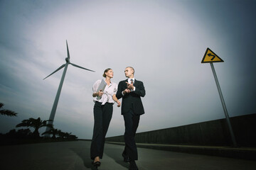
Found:
[(95, 157), (100, 157), (100, 159), (102, 159), (105, 136), (110, 125), (112, 113), (112, 103), (105, 103), (105, 105), (102, 105), (100, 102), (95, 102), (95, 106), (93, 108), (95, 123), (90, 147), (91, 159), (95, 159)]

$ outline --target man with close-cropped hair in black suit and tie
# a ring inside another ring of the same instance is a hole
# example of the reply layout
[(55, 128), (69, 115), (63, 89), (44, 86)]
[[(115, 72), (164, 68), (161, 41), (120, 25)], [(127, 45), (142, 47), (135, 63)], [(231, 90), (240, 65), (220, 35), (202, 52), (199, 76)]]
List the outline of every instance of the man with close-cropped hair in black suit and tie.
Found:
[(138, 160), (137, 146), (134, 140), (139, 125), (139, 117), (144, 114), (141, 97), (146, 91), (142, 81), (134, 79), (134, 68), (126, 67), (125, 77), (128, 79), (120, 81), (117, 87), (117, 98), (122, 98), (122, 115), (124, 116), (124, 162), (129, 162), (129, 170), (137, 170), (135, 160)]

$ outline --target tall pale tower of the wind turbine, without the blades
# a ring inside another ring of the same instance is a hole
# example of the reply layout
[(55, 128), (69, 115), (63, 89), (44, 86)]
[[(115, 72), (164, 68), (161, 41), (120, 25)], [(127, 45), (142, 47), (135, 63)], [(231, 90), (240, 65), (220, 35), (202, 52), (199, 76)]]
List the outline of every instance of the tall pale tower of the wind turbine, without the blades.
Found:
[[(48, 125), (53, 125), (53, 120), (54, 120), (55, 113), (56, 113), (56, 109), (57, 109), (57, 106), (58, 106), (58, 100), (59, 100), (59, 98), (60, 98), (60, 91), (61, 91), (62, 86), (63, 86), (63, 81), (64, 81), (64, 78), (65, 78), (65, 73), (67, 72), (67, 69), (68, 69), (68, 64), (69, 64), (69, 63), (66, 62), (65, 68), (64, 68), (64, 70), (63, 70), (63, 75), (62, 75), (62, 77), (61, 77), (61, 79), (60, 79), (60, 85), (59, 85), (59, 87), (58, 87), (58, 91), (57, 91), (57, 94), (56, 94), (56, 96), (55, 96), (55, 100), (54, 100), (54, 103), (53, 103), (53, 108), (52, 108), (52, 110), (51, 110), (51, 112), (50, 112), (50, 118), (49, 118), (50, 121), (48, 121)], [(47, 132), (48, 130), (50, 130), (50, 128), (49, 128), (49, 127), (46, 127), (46, 132)], [(46, 134), (45, 136), (46, 136), (46, 137), (49, 137), (50, 135), (49, 135), (49, 134)]]

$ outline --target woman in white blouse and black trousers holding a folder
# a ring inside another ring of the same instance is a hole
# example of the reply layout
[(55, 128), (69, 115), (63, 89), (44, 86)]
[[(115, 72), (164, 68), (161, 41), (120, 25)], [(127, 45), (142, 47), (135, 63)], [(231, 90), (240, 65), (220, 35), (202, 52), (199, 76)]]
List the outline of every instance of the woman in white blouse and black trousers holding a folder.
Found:
[(117, 107), (121, 106), (121, 103), (116, 97), (117, 84), (110, 80), (113, 78), (113, 73), (112, 69), (105, 69), (103, 77), (105, 77), (107, 85), (104, 91), (100, 90), (97, 92), (101, 80), (97, 80), (92, 86), (92, 96), (95, 102), (93, 108), (95, 123), (90, 147), (90, 157), (93, 160), (92, 164), (94, 166), (100, 166), (100, 159), (102, 159), (105, 145), (105, 136), (112, 118), (113, 104), (117, 102)]

